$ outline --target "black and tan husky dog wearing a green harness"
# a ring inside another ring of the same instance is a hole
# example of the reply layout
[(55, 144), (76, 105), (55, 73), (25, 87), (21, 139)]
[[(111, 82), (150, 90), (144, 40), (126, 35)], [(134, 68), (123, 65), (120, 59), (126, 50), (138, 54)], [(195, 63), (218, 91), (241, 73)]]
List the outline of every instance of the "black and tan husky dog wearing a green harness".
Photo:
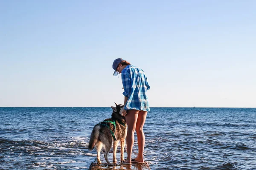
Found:
[[(115, 103), (116, 104), (116, 103)], [(121, 162), (124, 160), (124, 148), (125, 148), (125, 137), (126, 137), (126, 122), (125, 116), (122, 116), (122, 111), (124, 105), (117, 105), (116, 107), (111, 107), (113, 113), (110, 119), (105, 119), (103, 122), (95, 125), (93, 131), (90, 135), (90, 142), (88, 145), (89, 150), (93, 150), (93, 147), (96, 146), (97, 149), (97, 161), (100, 164), (100, 151), (102, 149), (102, 144), (105, 145), (105, 154), (104, 158), (107, 161), (108, 165), (114, 165), (116, 163), (116, 149), (117, 144), (120, 141), (121, 143)], [(108, 161), (108, 153), (111, 150), (113, 142), (113, 163)]]

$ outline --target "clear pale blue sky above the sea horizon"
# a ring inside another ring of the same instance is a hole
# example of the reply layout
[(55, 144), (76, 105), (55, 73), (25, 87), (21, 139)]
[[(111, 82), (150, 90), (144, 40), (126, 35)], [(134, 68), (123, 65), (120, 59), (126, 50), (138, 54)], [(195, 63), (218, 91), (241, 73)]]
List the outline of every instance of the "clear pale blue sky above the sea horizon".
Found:
[(0, 107), (122, 104), (116, 58), (151, 107), (256, 108), (256, 1), (0, 0)]

